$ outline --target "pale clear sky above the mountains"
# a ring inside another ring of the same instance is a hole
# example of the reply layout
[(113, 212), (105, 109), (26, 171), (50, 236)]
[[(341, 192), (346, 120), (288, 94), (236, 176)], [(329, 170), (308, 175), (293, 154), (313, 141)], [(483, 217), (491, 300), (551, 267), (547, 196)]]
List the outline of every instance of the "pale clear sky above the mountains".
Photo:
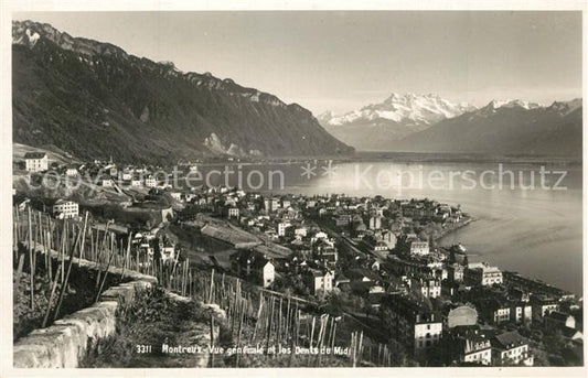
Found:
[(73, 36), (171, 61), (314, 115), (437, 94), (483, 106), (581, 97), (581, 12), (28, 12)]

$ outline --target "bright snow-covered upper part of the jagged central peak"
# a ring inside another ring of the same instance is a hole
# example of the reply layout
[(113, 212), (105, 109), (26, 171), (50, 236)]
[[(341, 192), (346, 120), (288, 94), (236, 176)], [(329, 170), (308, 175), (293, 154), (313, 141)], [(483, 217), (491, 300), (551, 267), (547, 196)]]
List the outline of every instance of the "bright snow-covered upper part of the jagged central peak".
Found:
[(379, 104), (372, 104), (346, 112), (334, 115), (327, 111), (318, 117), (319, 121), (329, 126), (349, 123), (368, 123), (371, 121), (389, 120), (405, 125), (432, 125), (447, 118), (453, 118), (467, 111), (475, 110), (469, 104), (453, 104), (437, 95), (398, 95), (392, 94)]

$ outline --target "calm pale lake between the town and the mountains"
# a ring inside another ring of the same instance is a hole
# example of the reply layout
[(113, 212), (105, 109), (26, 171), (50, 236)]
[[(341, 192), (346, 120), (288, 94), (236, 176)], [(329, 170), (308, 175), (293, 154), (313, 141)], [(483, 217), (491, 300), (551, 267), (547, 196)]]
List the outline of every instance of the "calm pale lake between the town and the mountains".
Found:
[[(205, 175), (213, 169), (201, 171)], [(539, 163), (330, 164), (310, 160), (233, 169), (235, 173), (226, 182), (235, 185), (239, 181), (245, 190), (427, 197), (460, 204), (475, 222), (442, 238), (442, 245), (462, 242), (470, 261), (488, 261), (577, 294), (582, 292), (581, 165), (545, 164), (542, 172)], [(215, 176), (221, 174), (211, 175)]]

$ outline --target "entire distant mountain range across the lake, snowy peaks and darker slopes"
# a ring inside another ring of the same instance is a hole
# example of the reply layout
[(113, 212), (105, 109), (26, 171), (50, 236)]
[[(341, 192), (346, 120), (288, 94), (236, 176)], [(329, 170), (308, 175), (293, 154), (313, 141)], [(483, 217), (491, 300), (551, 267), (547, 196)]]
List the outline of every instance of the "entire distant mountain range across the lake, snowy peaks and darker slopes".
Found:
[(581, 156), (581, 99), (542, 106), (493, 100), (477, 109), (435, 95), (393, 94), (360, 110), (318, 117), (357, 150)]

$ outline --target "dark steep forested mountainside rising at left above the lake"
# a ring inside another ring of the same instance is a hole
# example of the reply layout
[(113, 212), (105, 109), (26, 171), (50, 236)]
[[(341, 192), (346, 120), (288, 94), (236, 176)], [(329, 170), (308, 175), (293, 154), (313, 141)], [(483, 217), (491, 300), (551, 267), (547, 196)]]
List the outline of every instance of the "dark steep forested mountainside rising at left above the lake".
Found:
[(232, 79), (31, 21), (12, 23), (12, 41), (15, 142), (151, 162), (353, 151), (307, 109)]

